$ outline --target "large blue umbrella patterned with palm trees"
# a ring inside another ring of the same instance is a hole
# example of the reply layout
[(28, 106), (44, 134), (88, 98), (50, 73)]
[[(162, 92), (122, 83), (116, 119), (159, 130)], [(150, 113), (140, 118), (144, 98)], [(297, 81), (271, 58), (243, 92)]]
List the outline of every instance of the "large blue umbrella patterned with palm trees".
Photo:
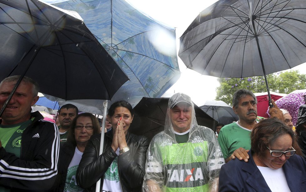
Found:
[(130, 78), (112, 101), (123, 99), (135, 106), (142, 97), (161, 97), (180, 77), (175, 28), (156, 22), (124, 0), (46, 2), (78, 12)]

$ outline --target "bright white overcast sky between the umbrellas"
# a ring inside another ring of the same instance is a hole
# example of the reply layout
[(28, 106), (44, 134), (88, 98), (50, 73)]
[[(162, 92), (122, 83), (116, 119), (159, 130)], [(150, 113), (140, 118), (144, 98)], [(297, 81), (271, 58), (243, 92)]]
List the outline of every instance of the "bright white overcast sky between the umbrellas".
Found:
[[(179, 38), (189, 24), (205, 8), (215, 3), (216, 0), (126, 0), (135, 8), (159, 20), (171, 27), (176, 28), (177, 52), (179, 50)], [(180, 79), (166, 92), (183, 92), (188, 94), (197, 105), (204, 104), (206, 100), (214, 100), (216, 88), (219, 86), (217, 77), (201, 75), (186, 66), (178, 57), (181, 70)], [(306, 73), (306, 63), (293, 69), (300, 73)]]

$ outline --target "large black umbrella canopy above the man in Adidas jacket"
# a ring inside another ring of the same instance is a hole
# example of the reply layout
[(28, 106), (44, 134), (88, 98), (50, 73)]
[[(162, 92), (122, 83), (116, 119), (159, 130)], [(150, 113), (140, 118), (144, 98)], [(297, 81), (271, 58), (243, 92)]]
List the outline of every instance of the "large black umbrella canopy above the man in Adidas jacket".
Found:
[(42, 93), (111, 99), (128, 77), (78, 13), (64, 11), (37, 0), (0, 0), (0, 79), (26, 72)]

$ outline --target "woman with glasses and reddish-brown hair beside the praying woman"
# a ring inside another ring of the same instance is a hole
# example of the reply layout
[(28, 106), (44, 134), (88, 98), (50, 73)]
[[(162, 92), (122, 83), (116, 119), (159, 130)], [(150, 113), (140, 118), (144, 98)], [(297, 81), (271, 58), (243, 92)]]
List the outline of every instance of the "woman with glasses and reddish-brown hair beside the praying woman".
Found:
[(81, 113), (72, 120), (67, 141), (60, 146), (58, 174), (50, 191), (78, 191), (76, 172), (90, 137), (100, 133), (100, 124), (91, 113)]

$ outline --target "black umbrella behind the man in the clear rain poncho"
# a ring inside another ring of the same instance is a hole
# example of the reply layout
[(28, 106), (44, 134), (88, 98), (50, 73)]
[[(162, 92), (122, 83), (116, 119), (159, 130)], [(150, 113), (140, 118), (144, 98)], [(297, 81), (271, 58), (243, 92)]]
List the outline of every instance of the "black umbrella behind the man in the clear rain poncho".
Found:
[[(144, 135), (150, 140), (157, 133), (164, 131), (169, 98), (143, 97), (133, 108), (135, 115), (129, 131), (136, 135)], [(217, 121), (194, 104), (198, 125), (216, 131)]]

